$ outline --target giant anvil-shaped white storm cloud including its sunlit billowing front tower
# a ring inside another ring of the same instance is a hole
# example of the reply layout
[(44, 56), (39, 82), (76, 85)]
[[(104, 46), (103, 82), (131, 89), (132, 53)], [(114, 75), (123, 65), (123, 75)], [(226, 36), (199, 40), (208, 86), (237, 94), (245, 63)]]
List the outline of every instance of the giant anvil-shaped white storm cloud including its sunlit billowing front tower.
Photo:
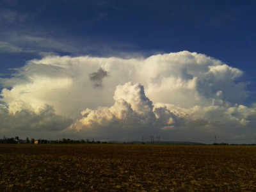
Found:
[(248, 92), (242, 75), (188, 51), (130, 59), (45, 56), (1, 80), (1, 103), (8, 116), (41, 116), (42, 106), (52, 106), (58, 120), (74, 120), (61, 128), (74, 136), (246, 137), (256, 115), (255, 106), (243, 104)]

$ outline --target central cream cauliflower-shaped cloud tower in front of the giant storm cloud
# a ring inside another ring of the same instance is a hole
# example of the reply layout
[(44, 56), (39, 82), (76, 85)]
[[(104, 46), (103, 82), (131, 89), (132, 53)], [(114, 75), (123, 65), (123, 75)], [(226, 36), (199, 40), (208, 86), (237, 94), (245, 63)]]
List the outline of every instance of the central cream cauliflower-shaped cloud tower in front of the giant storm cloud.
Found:
[(119, 138), (127, 138), (139, 133), (150, 135), (161, 128), (161, 125), (175, 123), (168, 109), (154, 109), (141, 84), (128, 82), (118, 85), (113, 98), (115, 103), (109, 108), (87, 108), (82, 111), (83, 118), (72, 124), (70, 129), (84, 131), (92, 136), (102, 136), (102, 129), (104, 133), (115, 130), (116, 134), (122, 131), (123, 135), (119, 135)]

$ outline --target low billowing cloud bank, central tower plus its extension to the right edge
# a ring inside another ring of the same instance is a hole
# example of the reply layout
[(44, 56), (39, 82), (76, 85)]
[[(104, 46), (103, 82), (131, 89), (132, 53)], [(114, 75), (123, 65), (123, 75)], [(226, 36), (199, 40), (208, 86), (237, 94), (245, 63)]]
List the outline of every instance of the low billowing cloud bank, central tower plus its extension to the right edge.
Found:
[(248, 137), (255, 126), (255, 108), (234, 105), (185, 109), (161, 103), (153, 106), (143, 86), (131, 82), (116, 86), (113, 99), (115, 103), (109, 108), (82, 111), (83, 117), (70, 126), (70, 131), (101, 138), (114, 135), (123, 140), (154, 134), (165, 139), (182, 136), (185, 140), (212, 140), (217, 134), (224, 140), (239, 138), (241, 132)]

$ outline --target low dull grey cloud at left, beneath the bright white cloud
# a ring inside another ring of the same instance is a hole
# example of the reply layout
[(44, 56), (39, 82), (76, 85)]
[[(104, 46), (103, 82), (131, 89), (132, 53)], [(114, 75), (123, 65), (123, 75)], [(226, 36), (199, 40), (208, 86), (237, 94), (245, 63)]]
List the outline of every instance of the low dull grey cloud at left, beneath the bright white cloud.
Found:
[(22, 109), (15, 114), (9, 113), (8, 108), (0, 106), (0, 117), (0, 134), (8, 129), (12, 134), (40, 131), (41, 134), (45, 132), (47, 135), (50, 134), (49, 131), (62, 131), (73, 122), (72, 118), (56, 114), (55, 109), (47, 104), (42, 106), (38, 113)]

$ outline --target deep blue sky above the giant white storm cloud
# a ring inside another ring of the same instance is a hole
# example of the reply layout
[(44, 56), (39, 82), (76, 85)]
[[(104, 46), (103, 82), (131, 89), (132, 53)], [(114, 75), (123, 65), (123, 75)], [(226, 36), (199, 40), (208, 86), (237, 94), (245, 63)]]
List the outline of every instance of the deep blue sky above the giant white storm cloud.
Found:
[(23, 51), (1, 50), (5, 68), (49, 51), (105, 56), (188, 50), (242, 70), (255, 60), (254, 1), (1, 1), (0, 8), (1, 41)]

